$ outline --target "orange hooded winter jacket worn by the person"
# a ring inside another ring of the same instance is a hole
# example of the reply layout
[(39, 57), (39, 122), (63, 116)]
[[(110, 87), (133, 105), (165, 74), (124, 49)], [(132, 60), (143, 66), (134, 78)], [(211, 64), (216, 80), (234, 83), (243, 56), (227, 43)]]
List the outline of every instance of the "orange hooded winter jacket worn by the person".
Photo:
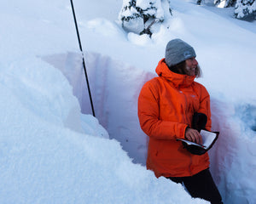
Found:
[(209, 167), (209, 156), (189, 153), (176, 139), (184, 139), (195, 112), (207, 115), (211, 130), (210, 96), (195, 77), (170, 71), (165, 59), (155, 71), (159, 77), (146, 82), (138, 98), (140, 125), (149, 137), (147, 167), (156, 177), (192, 176)]

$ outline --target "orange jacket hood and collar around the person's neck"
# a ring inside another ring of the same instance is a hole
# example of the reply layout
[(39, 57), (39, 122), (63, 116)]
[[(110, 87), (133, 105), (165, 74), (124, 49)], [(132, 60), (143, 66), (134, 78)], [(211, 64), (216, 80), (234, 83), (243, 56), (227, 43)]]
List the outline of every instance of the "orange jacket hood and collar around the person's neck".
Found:
[(165, 59), (160, 60), (160, 62), (155, 68), (155, 72), (158, 74), (159, 77), (164, 77), (166, 78), (166, 80), (172, 82), (175, 85), (175, 87), (179, 87), (179, 86), (188, 87), (195, 80), (195, 76), (177, 74), (171, 71), (166, 65)]

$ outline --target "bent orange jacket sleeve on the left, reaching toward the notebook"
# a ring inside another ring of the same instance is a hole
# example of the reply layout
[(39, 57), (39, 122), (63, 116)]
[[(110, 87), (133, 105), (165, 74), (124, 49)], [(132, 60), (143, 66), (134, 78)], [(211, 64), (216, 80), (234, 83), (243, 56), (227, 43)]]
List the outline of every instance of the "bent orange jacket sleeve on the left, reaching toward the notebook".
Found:
[(159, 100), (160, 94), (155, 83), (145, 83), (138, 98), (138, 118), (144, 133), (154, 139), (184, 139), (188, 125), (160, 120)]

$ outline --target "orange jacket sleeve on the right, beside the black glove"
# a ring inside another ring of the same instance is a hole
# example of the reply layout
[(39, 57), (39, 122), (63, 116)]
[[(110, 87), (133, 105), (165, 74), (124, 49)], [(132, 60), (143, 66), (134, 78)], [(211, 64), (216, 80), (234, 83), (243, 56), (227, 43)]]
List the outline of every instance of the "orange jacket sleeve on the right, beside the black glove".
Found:
[(202, 85), (201, 85), (200, 106), (199, 106), (198, 112), (201, 112), (207, 115), (206, 129), (208, 131), (211, 131), (212, 119), (211, 119), (210, 95), (207, 92), (207, 88), (205, 88)]

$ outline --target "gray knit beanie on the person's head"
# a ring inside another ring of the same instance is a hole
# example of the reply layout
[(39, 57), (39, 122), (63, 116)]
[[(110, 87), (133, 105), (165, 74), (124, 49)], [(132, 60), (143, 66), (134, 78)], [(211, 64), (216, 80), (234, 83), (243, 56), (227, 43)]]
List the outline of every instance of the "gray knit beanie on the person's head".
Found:
[(174, 39), (166, 45), (166, 65), (169, 67), (195, 56), (194, 48), (181, 39)]

